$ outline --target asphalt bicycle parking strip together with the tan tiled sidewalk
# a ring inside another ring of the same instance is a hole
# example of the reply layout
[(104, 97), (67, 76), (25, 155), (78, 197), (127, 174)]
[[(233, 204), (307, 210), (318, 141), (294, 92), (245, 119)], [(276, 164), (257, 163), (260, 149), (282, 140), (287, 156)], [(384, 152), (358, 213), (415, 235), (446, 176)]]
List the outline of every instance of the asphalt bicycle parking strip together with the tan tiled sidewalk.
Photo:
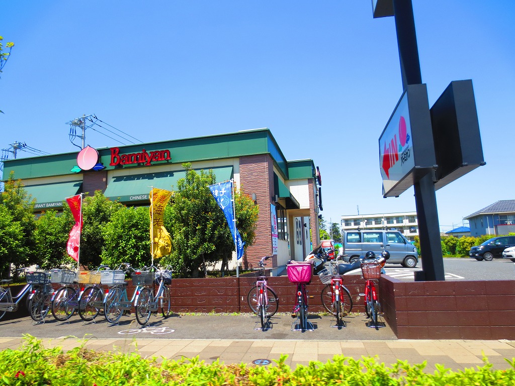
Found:
[[(504, 358), (515, 358), (515, 341), (469, 340), (399, 340), (386, 326), (367, 328), (363, 315), (346, 317), (347, 328), (332, 328), (331, 317), (310, 314), (313, 331), (291, 331), (289, 315), (276, 315), (267, 331), (259, 327), (258, 318), (241, 315), (176, 315), (163, 319), (151, 317), (151, 324), (141, 327), (134, 317), (124, 317), (117, 325), (99, 318), (84, 323), (73, 317), (70, 323), (49, 318), (33, 325), (30, 318), (0, 322), (0, 350), (18, 348), (22, 335), (29, 333), (43, 341), (45, 347), (60, 346), (64, 351), (84, 344), (94, 350), (132, 353), (142, 357), (180, 359), (199, 356), (211, 363), (248, 363), (268, 360), (273, 364), (287, 354), (286, 364), (295, 367), (310, 361), (326, 362), (334, 355), (354, 359), (376, 356), (387, 365), (406, 360), (409, 364), (427, 361), (426, 372), (436, 370), (439, 363), (452, 370), (483, 365), (483, 355), (494, 369), (509, 369)], [(82, 339), (80, 339), (82, 338)]]

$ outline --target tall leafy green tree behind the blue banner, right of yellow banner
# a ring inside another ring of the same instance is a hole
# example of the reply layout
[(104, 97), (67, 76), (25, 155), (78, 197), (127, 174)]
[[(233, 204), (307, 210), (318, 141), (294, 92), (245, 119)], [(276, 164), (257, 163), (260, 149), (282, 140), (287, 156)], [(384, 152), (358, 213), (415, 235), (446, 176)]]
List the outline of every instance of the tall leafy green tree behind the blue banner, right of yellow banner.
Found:
[[(216, 183), (213, 171), (197, 173), (190, 163), (182, 166), (186, 176), (177, 182), (169, 217), (166, 210), (164, 216), (164, 226), (171, 234), (172, 252), (162, 260), (163, 264), (171, 263), (182, 277), (198, 277), (206, 265), (227, 261), (234, 250), (234, 241), (224, 213), (208, 187)], [(234, 199), (238, 231), (243, 241), (251, 245), (259, 208), (243, 193), (236, 192)]]

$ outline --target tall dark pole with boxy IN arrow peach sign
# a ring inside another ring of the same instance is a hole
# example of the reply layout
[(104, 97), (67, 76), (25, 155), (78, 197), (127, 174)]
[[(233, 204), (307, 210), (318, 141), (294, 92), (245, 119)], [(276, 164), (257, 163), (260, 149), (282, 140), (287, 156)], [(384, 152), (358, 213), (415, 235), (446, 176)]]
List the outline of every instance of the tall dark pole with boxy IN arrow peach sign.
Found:
[[(435, 189), (485, 164), (472, 83), (453, 82), (430, 109), (411, 0), (372, 0), (372, 10), (374, 18), (395, 17), (404, 90), (379, 138), (383, 196), (399, 196), (413, 185), (422, 250), (415, 279), (444, 280)], [(464, 151), (471, 146), (474, 153)]]

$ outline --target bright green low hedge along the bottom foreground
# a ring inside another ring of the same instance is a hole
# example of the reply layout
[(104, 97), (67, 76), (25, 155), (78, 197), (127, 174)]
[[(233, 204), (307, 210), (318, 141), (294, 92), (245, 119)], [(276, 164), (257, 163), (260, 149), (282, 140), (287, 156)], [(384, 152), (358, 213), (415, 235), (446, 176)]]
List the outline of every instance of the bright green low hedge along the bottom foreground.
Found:
[(44, 348), (41, 341), (25, 336), (20, 349), (0, 352), (0, 384), (5, 385), (513, 385), (515, 358), (508, 370), (494, 370), (485, 364), (476, 369), (452, 372), (437, 365), (433, 374), (424, 373), (425, 362), (410, 365), (398, 360), (391, 367), (376, 359), (356, 360), (342, 355), (332, 361), (310, 362), (291, 370), (283, 355), (271, 366), (206, 364), (193, 359), (146, 359), (138, 354), (95, 352), (76, 347), (63, 353), (60, 347)]

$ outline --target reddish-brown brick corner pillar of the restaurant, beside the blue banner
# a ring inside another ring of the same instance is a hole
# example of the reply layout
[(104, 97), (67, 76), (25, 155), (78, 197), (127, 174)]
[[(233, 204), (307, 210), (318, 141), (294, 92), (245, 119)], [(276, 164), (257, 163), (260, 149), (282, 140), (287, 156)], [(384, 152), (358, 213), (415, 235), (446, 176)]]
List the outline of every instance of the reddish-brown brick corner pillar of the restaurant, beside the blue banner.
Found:
[(239, 159), (239, 182), (245, 193), (256, 194), (259, 205), (258, 229), (254, 244), (246, 248), (243, 267), (256, 267), (263, 256), (272, 254), (270, 203), (273, 192), (273, 161), (268, 154)]

